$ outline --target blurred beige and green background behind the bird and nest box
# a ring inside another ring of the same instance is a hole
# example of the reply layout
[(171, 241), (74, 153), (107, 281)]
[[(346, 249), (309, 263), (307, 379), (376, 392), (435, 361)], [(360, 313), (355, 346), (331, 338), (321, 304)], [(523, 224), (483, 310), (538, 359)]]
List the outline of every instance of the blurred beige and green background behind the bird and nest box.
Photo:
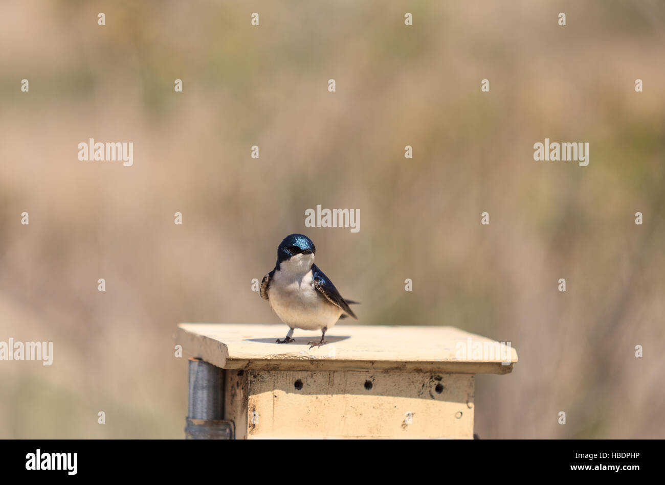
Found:
[[(184, 437), (176, 324), (279, 322), (251, 280), (294, 232), (358, 323), (512, 342), (481, 438), (665, 437), (661, 1), (0, 8), (0, 340), (55, 347), (0, 362), (0, 438)], [(546, 137), (589, 166), (533, 161)], [(360, 232), (305, 228), (317, 204)]]

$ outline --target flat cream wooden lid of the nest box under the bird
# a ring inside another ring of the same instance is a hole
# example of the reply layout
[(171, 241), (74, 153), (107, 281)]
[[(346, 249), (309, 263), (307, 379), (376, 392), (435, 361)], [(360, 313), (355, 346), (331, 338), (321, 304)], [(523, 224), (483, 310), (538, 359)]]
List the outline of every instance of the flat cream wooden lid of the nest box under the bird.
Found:
[[(517, 362), (515, 349), (453, 327), (338, 324), (326, 335), (329, 343), (313, 349), (307, 342), (321, 334), (305, 330), (296, 330), (293, 343), (275, 343), (287, 330), (285, 325), (180, 324), (176, 343), (223, 369), (503, 374)], [(462, 347), (466, 355), (460, 356)], [(484, 353), (473, 352), (483, 348)]]

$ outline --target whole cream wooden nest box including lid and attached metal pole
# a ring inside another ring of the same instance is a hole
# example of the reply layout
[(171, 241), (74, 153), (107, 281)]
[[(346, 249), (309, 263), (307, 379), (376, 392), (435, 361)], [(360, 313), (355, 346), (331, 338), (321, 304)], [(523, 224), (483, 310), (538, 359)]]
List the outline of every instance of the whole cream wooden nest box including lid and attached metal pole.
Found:
[[(188, 438), (473, 438), (475, 374), (517, 362), (452, 327), (337, 325), (277, 344), (284, 325), (180, 324)], [(319, 334), (320, 335), (320, 334)]]

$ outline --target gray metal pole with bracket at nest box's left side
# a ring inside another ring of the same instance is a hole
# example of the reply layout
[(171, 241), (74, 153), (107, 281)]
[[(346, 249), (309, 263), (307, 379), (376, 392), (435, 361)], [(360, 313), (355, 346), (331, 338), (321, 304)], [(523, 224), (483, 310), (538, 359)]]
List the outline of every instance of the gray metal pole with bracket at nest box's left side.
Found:
[(224, 417), (224, 371), (190, 359), (190, 389), (185, 425), (186, 439), (233, 439), (231, 421)]

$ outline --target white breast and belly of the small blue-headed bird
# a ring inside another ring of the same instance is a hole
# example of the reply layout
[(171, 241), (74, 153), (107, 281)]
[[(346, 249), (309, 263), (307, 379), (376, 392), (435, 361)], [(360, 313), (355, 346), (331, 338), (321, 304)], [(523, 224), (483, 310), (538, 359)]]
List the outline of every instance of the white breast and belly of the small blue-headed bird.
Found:
[(305, 274), (275, 271), (268, 290), (268, 301), (282, 322), (291, 328), (330, 329), (342, 315), (341, 308), (314, 288), (311, 270)]

